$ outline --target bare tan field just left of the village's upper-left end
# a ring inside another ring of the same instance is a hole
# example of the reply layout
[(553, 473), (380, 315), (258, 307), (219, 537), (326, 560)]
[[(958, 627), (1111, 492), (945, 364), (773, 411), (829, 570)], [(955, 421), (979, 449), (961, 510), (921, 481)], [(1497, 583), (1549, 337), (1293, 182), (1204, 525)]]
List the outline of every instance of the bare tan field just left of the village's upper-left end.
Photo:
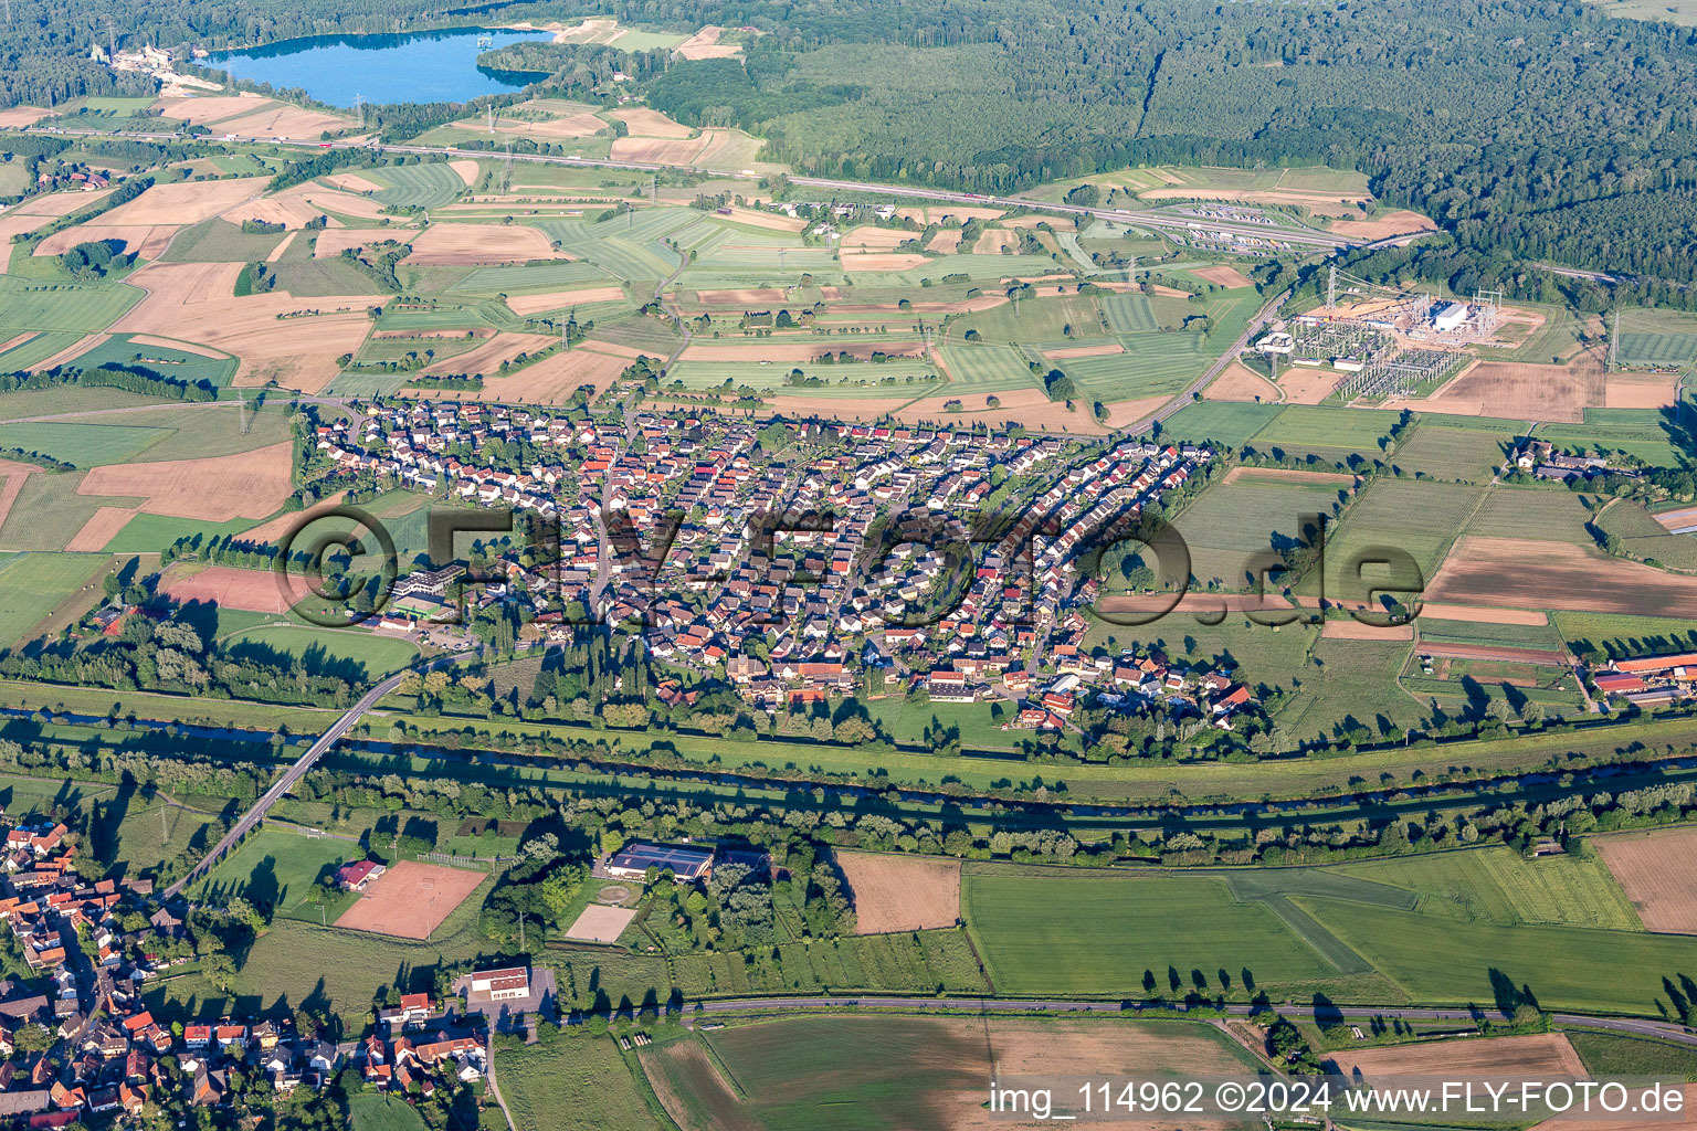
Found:
[(229, 522), (265, 519), (292, 493), (288, 482), (292, 441), (255, 448), (234, 456), (163, 460), (160, 463), (107, 463), (90, 468), (78, 495), (131, 495), (141, 509), (176, 519)]

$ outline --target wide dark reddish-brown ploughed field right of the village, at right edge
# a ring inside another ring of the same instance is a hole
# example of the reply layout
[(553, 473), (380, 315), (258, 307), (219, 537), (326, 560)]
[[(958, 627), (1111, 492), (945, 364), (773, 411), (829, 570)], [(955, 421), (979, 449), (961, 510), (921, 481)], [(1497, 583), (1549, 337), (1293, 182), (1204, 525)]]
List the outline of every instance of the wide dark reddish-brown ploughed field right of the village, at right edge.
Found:
[(1427, 585), (1437, 602), (1697, 617), (1697, 578), (1573, 543), (1466, 536)]

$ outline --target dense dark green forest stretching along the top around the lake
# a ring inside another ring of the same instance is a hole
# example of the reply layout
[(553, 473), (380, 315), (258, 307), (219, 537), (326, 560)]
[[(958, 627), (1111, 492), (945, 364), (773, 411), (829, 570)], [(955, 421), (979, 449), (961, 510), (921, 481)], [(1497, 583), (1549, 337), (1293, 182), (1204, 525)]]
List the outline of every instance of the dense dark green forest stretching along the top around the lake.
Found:
[[(1142, 163), (1325, 163), (1359, 168), (1386, 203), (1437, 219), (1478, 270), (1549, 259), (1697, 281), (1694, 29), (1578, 0), (597, 7), (645, 27), (760, 29), (740, 59), (616, 54), (657, 109), (750, 129), (804, 173), (1006, 192)], [(136, 81), (85, 58), (105, 8), (14, 8), (0, 27), (0, 102)], [(550, 0), (504, 7), (499, 22), (582, 14)], [(479, 17), (412, 0), (151, 0), (112, 19), (120, 47), (219, 47)], [(524, 53), (555, 68), (555, 88), (582, 90), (609, 66), (604, 47)], [(451, 114), (384, 107), (378, 125), (389, 136)]]

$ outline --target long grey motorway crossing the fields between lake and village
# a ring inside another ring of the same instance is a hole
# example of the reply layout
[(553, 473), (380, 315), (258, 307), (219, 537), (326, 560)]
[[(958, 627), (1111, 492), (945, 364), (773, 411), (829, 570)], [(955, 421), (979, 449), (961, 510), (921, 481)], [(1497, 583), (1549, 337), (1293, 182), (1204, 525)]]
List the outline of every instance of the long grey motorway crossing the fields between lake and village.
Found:
[[(31, 127), (24, 132), (34, 134), (59, 134), (59, 136), (80, 136), (80, 137), (127, 137), (132, 141), (182, 141), (183, 137), (175, 132), (154, 131), (102, 131), (102, 129), (54, 129), (54, 127)], [(397, 146), (397, 144), (380, 144), (380, 142), (348, 142), (348, 141), (285, 141), (280, 137), (260, 137), (246, 134), (207, 134), (202, 141), (232, 141), (238, 144), (260, 144), (260, 146), (285, 146), (294, 149), (368, 149), (372, 153), (395, 153), (407, 156), (441, 156), (441, 158), (492, 158), (501, 156), (502, 159), (526, 161), (529, 164), (577, 164), (584, 168), (597, 170), (633, 170), (640, 173), (694, 173), (703, 176), (721, 176), (721, 178), (752, 178), (752, 173), (742, 170), (706, 170), (689, 164), (655, 164), (648, 161), (609, 161), (594, 158), (577, 158), (577, 156), (553, 156), (543, 153), (512, 153), (512, 154), (496, 154), (489, 149), (460, 149), (456, 146)], [(1247, 236), (1254, 239), (1278, 239), (1293, 246), (1315, 248), (1325, 251), (1337, 251), (1341, 248), (1358, 248), (1364, 241), (1347, 239), (1344, 236), (1334, 236), (1332, 232), (1322, 232), (1312, 227), (1286, 227), (1276, 224), (1241, 224), (1230, 220), (1217, 220), (1212, 217), (1185, 217), (1174, 212), (1161, 212), (1152, 209), (1086, 209), (1076, 203), (1056, 203), (1049, 200), (1033, 200), (1030, 197), (989, 197), (983, 193), (967, 192), (950, 192), (945, 188), (923, 188), (916, 185), (879, 185), (874, 181), (848, 181), (835, 178), (818, 178), (818, 176), (791, 176), (791, 185), (799, 185), (804, 188), (821, 188), (826, 192), (864, 192), (879, 193), (886, 197), (905, 197), (910, 200), (942, 200), (945, 203), (962, 203), (976, 207), (1003, 207), (1003, 209), (1032, 209), (1037, 212), (1054, 212), (1057, 215), (1071, 217), (1095, 217), (1101, 220), (1112, 220), (1115, 224), (1137, 224), (1139, 227), (1157, 227), (1168, 231), (1205, 231), (1205, 232), (1227, 232), (1232, 236)], [(1405, 237), (1397, 237), (1405, 239)], [(1388, 241), (1378, 241), (1388, 242)]]

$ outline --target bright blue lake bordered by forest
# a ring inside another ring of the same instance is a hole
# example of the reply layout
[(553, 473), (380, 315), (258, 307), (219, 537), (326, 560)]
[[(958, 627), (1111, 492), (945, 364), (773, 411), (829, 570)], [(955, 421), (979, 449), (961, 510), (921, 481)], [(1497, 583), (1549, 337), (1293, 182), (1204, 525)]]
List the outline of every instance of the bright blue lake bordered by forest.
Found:
[(351, 107), (355, 95), (365, 102), (465, 102), (535, 83), (529, 71), (496, 71), (477, 66), (479, 36), (494, 46), (518, 39), (548, 39), (548, 32), (484, 31), (451, 27), (400, 36), (312, 36), (253, 47), (241, 53), (216, 51), (204, 59), (210, 68), (229, 68), (236, 78), (251, 78), (277, 88), (304, 90), (333, 107)]

